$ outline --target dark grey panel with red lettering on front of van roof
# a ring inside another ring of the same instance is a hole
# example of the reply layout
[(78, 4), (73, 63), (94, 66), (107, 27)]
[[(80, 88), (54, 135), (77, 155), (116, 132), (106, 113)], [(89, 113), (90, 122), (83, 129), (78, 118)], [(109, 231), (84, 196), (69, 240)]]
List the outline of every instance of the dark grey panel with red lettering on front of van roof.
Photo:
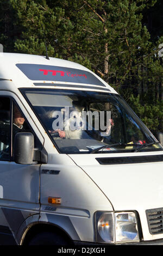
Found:
[(94, 84), (106, 87), (96, 76), (91, 72), (65, 68), (62, 66), (39, 65), (39, 64), (16, 64), (24, 75), (32, 81), (58, 81), (58, 82), (71, 82)]

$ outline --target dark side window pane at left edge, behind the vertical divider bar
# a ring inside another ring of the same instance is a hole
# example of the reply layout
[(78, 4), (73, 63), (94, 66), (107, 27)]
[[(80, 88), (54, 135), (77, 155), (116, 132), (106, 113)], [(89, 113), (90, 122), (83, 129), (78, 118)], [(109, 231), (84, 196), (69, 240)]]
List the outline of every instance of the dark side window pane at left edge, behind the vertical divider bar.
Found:
[(10, 160), (10, 99), (0, 97), (0, 160)]

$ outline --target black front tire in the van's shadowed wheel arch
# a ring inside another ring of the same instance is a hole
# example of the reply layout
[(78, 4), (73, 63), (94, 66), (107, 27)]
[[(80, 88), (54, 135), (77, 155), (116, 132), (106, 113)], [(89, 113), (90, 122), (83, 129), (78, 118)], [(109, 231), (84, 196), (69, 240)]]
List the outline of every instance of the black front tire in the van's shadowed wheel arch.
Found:
[(70, 242), (61, 234), (56, 234), (51, 231), (44, 231), (33, 236), (28, 242), (28, 245), (70, 245)]

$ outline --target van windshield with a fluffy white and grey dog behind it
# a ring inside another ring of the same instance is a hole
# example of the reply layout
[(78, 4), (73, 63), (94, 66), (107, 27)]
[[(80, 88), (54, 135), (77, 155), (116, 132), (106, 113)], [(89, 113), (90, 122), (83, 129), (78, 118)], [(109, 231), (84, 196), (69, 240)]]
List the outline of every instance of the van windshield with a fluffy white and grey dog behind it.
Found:
[(40, 88), (21, 92), (62, 154), (163, 150), (120, 95)]

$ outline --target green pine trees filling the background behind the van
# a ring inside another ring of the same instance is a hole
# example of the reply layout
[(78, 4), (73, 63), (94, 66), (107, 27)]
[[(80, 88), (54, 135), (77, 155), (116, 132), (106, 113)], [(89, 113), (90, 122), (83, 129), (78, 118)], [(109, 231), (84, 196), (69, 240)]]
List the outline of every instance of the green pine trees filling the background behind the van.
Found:
[(161, 0), (0, 0), (5, 52), (46, 54), (95, 71), (155, 135), (163, 132)]

